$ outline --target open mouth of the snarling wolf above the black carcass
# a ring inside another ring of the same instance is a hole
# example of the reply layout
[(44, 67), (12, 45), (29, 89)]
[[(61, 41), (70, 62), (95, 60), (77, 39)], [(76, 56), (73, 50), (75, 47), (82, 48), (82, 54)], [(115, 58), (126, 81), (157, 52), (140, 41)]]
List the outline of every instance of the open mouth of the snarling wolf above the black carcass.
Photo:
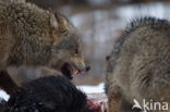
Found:
[(61, 66), (61, 73), (72, 79), (74, 75), (81, 74), (81, 70), (75, 64), (66, 62)]

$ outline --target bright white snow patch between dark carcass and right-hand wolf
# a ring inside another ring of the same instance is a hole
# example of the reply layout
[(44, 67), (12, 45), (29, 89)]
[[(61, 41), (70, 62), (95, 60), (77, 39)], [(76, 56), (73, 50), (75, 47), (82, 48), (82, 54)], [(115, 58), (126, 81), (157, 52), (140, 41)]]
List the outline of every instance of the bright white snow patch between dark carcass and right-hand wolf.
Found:
[(77, 86), (77, 88), (86, 94), (102, 94), (105, 92), (105, 84), (101, 83), (97, 86)]

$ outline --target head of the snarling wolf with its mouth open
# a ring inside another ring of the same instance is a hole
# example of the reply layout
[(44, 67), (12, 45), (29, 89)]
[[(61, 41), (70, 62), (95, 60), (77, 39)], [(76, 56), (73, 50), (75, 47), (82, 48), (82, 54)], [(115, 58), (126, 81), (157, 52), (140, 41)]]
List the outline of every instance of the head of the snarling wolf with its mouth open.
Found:
[(81, 72), (87, 72), (89, 66), (82, 55), (80, 35), (72, 23), (61, 14), (51, 16), (52, 30), (52, 58), (50, 66), (61, 71), (69, 78)]

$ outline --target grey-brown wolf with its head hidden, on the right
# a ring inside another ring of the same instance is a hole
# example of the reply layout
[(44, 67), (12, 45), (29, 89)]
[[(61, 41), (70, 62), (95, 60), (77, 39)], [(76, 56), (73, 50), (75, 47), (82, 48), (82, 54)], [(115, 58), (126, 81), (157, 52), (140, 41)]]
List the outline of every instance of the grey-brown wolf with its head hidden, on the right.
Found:
[(170, 22), (155, 17), (134, 20), (107, 58), (106, 92), (109, 112), (132, 112), (134, 100), (143, 107), (170, 112)]

